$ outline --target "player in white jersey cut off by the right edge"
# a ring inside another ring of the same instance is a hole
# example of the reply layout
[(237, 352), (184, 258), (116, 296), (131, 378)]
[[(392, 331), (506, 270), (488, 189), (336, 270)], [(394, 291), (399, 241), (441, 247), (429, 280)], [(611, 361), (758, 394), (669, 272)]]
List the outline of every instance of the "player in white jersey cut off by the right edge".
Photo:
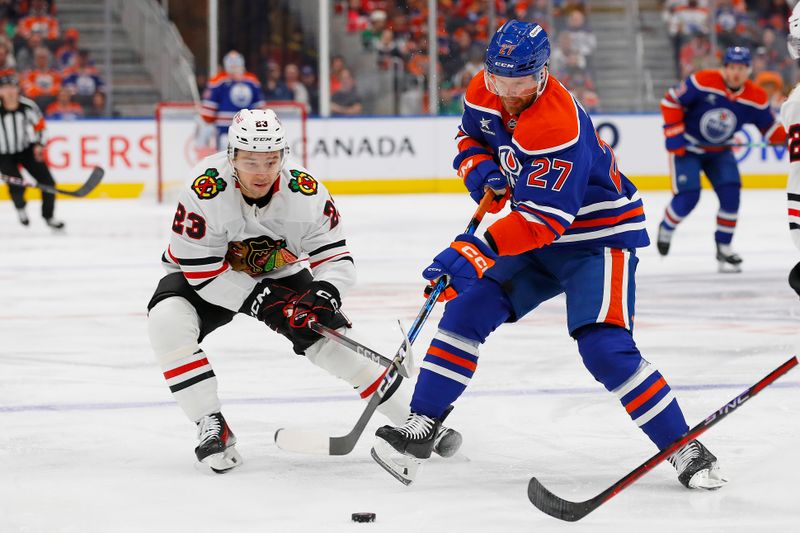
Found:
[[(789, 16), (787, 45), (792, 59), (800, 62), (800, 2)], [(786, 184), (789, 232), (800, 250), (800, 84), (795, 86), (781, 106), (781, 122), (786, 129), (789, 145), (789, 180)], [(789, 273), (789, 285), (800, 295), (800, 262)]]

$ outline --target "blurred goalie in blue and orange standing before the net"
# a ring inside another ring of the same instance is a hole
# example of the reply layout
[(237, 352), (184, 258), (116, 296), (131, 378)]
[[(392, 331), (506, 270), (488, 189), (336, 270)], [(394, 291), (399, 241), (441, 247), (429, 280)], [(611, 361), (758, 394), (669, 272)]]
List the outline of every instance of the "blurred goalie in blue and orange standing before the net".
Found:
[(201, 130), (198, 144), (210, 146), (214, 151), (226, 146), (228, 126), (237, 111), (266, 106), (261, 82), (245, 70), (242, 54), (231, 50), (222, 58), (222, 67), (223, 71), (211, 78), (203, 91), (200, 108), (207, 127)]

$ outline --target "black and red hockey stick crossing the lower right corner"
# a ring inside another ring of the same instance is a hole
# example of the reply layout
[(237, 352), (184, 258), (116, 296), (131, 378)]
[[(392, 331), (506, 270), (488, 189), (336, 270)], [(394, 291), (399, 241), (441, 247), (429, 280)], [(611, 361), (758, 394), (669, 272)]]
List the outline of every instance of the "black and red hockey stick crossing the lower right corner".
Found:
[(726, 403), (722, 407), (720, 407), (717, 411), (713, 412), (708, 418), (697, 424), (695, 427), (690, 429), (687, 433), (685, 433), (681, 438), (670, 444), (668, 447), (664, 448), (653, 457), (639, 465), (635, 468), (631, 473), (629, 473), (624, 478), (620, 479), (606, 490), (591, 498), (589, 500), (583, 502), (571, 502), (568, 500), (564, 500), (559, 498), (549, 490), (547, 490), (544, 485), (539, 483), (539, 480), (531, 478), (530, 482), (528, 483), (528, 499), (531, 501), (533, 505), (535, 505), (540, 511), (543, 511), (550, 516), (555, 518), (559, 518), (561, 520), (566, 520), (567, 522), (575, 522), (580, 520), (587, 514), (591, 513), (605, 502), (616, 496), (619, 492), (622, 491), (628, 485), (631, 485), (637, 479), (645, 475), (647, 472), (652, 470), (656, 465), (667, 459), (670, 455), (675, 453), (678, 449), (680, 449), (684, 444), (689, 442), (690, 440), (696, 439), (700, 435), (706, 432), (708, 428), (728, 416), (734, 409), (742, 405), (744, 402), (761, 392), (762, 389), (770, 385), (773, 381), (784, 375), (786, 372), (791, 370), (793, 367), (797, 366), (797, 356), (792, 357), (781, 366), (767, 374), (764, 378), (761, 379), (758, 383), (741, 393), (739, 396), (731, 400), (730, 402)]

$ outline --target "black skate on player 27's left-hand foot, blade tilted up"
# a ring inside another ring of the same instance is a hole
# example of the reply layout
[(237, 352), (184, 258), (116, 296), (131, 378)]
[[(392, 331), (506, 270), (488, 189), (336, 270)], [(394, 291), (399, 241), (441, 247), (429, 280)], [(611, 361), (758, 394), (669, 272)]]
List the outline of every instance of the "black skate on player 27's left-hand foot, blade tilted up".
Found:
[[(439, 429), (451, 409), (441, 418), (431, 418), (412, 411), (402, 426), (378, 428), (371, 451), (372, 458), (400, 483), (410, 485), (416, 479), (422, 463), (430, 458), (437, 438), (446, 436), (445, 432), (440, 434)], [(450, 431), (458, 435), (460, 445), (461, 435)]]

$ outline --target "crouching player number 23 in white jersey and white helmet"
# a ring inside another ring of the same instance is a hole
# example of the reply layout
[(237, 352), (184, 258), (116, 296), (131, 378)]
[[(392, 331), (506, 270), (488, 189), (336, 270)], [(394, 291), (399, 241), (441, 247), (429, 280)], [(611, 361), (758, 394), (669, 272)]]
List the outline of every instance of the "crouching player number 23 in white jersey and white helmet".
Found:
[[(148, 304), (156, 359), (197, 425), (197, 459), (218, 473), (242, 458), (200, 343), (236, 313), (264, 322), (362, 398), (383, 377), (377, 363), (308, 327), (312, 320), (341, 332), (349, 327), (340, 308), (356, 271), (333, 199), (287, 155), (272, 110), (245, 109), (234, 116), (227, 152), (201, 161), (181, 192), (162, 256), (168, 274)], [(396, 381), (378, 407), (396, 424), (409, 413), (411, 385), (401, 384)], [(442, 432), (442, 454), (455, 453), (460, 439), (453, 430)]]

